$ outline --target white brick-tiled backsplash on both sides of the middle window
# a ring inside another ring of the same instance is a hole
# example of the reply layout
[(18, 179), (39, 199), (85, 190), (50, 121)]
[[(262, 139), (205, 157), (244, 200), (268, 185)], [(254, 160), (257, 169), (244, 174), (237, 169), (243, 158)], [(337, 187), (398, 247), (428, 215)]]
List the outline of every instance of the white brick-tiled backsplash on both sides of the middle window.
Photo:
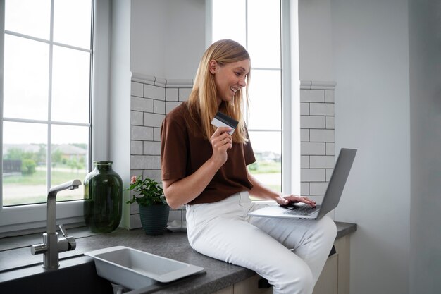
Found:
[[(300, 90), (301, 192), (323, 196), (334, 166), (333, 82), (302, 81)], [(168, 112), (185, 101), (192, 80), (166, 80), (132, 75), (130, 174), (161, 181), (161, 123)], [(139, 211), (132, 205), (130, 228), (139, 228)], [(170, 221), (181, 210), (170, 211)]]

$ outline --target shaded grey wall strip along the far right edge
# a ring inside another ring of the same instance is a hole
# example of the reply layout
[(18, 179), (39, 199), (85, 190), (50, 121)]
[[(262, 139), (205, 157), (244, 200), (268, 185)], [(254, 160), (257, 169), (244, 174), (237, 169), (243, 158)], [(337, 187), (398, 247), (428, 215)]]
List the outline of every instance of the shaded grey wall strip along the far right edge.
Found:
[(409, 0), (410, 293), (441, 289), (441, 2)]

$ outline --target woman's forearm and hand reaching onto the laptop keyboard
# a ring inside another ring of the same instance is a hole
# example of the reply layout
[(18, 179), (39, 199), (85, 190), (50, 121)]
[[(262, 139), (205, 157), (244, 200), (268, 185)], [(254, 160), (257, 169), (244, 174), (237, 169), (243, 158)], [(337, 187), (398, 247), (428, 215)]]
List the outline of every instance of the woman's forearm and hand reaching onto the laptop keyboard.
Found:
[(304, 202), (306, 204), (311, 205), (311, 207), (316, 206), (316, 202), (313, 200), (309, 200), (308, 197), (301, 197), (296, 195), (283, 195), (281, 192), (276, 192), (274, 190), (271, 190), (270, 188), (267, 188), (265, 185), (263, 185), (259, 180), (257, 180), (254, 176), (251, 175), (251, 173), (248, 172), (248, 179), (253, 184), (253, 188), (249, 190), (249, 194), (251, 196), (266, 199), (266, 200), (275, 200), (280, 205), (286, 205), (290, 202), (297, 203), (297, 202)]

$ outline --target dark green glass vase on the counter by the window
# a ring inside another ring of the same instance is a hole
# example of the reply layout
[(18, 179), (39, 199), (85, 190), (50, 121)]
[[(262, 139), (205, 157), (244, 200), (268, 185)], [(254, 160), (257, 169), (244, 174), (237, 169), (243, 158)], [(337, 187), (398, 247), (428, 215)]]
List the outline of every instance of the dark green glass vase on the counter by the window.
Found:
[(123, 180), (113, 171), (112, 161), (94, 161), (94, 170), (84, 182), (84, 216), (94, 233), (118, 228), (123, 212)]

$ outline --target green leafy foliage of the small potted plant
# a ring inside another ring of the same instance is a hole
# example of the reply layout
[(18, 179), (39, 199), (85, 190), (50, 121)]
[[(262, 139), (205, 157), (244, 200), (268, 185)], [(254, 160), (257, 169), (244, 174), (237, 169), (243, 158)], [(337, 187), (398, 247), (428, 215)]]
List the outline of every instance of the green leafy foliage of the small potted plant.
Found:
[(166, 197), (164, 196), (161, 185), (156, 180), (132, 176), (130, 178), (130, 187), (127, 190), (136, 192), (131, 200), (126, 203), (132, 204), (137, 202), (139, 205), (167, 205)]

